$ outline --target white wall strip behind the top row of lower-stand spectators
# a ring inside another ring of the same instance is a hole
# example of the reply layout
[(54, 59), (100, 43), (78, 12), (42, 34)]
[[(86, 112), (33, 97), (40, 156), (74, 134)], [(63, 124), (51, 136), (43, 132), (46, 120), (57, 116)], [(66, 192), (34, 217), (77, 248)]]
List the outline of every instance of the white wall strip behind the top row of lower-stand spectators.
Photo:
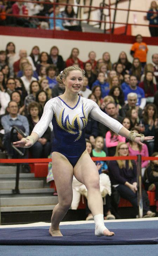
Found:
[[(40, 51), (50, 52), (50, 48), (53, 45), (57, 45), (60, 55), (66, 60), (73, 47), (79, 48), (79, 58), (83, 61), (88, 59), (88, 52), (95, 51), (97, 59), (102, 57), (103, 52), (107, 51), (111, 55), (111, 61), (115, 62), (118, 59), (118, 55), (121, 51), (125, 51), (129, 60), (132, 61), (130, 55), (131, 44), (111, 43), (111, 42), (95, 42), (95, 41), (78, 41), (78, 40), (64, 40), (64, 39), (52, 39), (52, 38), (33, 38), (33, 37), (15, 37), (0, 35), (0, 50), (5, 50), (6, 44), (12, 41), (16, 46), (16, 52), (20, 49), (26, 49), (30, 54), (34, 45), (40, 47)], [(149, 45), (149, 53), (147, 56), (147, 62), (151, 62), (151, 55), (158, 52), (158, 47)]]

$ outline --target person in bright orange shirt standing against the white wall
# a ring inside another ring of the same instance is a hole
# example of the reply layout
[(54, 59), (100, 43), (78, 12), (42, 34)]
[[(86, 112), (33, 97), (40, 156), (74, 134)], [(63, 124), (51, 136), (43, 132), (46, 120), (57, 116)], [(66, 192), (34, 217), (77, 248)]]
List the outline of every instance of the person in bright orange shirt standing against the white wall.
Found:
[(132, 45), (130, 54), (133, 58), (138, 58), (142, 67), (144, 67), (146, 65), (146, 55), (148, 48), (145, 42), (142, 41), (142, 36), (140, 34), (136, 35), (136, 42)]

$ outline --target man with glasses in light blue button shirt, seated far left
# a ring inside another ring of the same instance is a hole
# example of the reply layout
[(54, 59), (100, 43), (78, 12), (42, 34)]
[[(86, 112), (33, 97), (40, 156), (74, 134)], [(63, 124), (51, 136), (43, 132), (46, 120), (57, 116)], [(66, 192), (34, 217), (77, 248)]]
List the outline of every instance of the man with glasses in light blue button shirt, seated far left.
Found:
[[(11, 138), (11, 130), (13, 126), (17, 126), (19, 129), (25, 132), (27, 136), (29, 134), (28, 120), (25, 116), (18, 114), (18, 104), (13, 100), (9, 101), (7, 111), (9, 114), (1, 118), (1, 124), (5, 130), (2, 142), (4, 148), (7, 150), (8, 158), (19, 158), (17, 151), (15, 151), (11, 146), (11, 139), (13, 141), (17, 141), (22, 139), (22, 135), (15, 132), (13, 133), (13, 138)], [(25, 153), (26, 149), (20, 150)], [(25, 158), (27, 157), (25, 156)]]

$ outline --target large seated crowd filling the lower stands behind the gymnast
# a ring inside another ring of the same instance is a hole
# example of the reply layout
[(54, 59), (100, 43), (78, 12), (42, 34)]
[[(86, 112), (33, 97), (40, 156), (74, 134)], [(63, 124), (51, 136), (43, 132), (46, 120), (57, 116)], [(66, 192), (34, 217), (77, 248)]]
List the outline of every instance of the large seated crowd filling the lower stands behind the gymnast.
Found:
[[(128, 147), (130, 156), (151, 156), (158, 152), (158, 53), (152, 55), (150, 63), (146, 63), (147, 51), (141, 35), (137, 35), (136, 43), (131, 47), (132, 63), (124, 51), (118, 53), (118, 60), (114, 63), (110, 53), (104, 52), (97, 60), (96, 53), (90, 51), (84, 62), (75, 47), (67, 60), (63, 60), (57, 46), (52, 46), (49, 53), (40, 52), (38, 46), (33, 46), (28, 56), (25, 49), (18, 54), (14, 43), (8, 42), (6, 50), (0, 51), (0, 150), (6, 152), (8, 158), (17, 158), (17, 152), (9, 143), (12, 127), (15, 125), (26, 135), (30, 134), (39, 122), (46, 102), (64, 92), (56, 76), (65, 67), (76, 65), (86, 71), (80, 96), (94, 100), (103, 112), (117, 119), (128, 130), (154, 136), (142, 147), (89, 117), (85, 135), (94, 148), (93, 155), (96, 156), (98, 136), (106, 152), (104, 156), (116, 155), (119, 143)], [(21, 135), (15, 132), (12, 139), (19, 140)], [(22, 149), (24, 157), (48, 157), (52, 139), (50, 124), (33, 147)], [(148, 161), (142, 162), (143, 173), (148, 164)], [(103, 171), (106, 168), (102, 168)], [(130, 189), (134, 191), (134, 188), (132, 185)], [(111, 207), (106, 209), (106, 215), (111, 215)]]

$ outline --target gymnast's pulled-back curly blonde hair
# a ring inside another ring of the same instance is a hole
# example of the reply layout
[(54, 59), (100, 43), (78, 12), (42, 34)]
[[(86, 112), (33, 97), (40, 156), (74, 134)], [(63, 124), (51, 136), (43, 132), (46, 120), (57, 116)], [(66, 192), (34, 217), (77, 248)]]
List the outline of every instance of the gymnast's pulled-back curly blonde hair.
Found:
[(62, 79), (66, 79), (67, 76), (69, 75), (69, 73), (71, 71), (81, 71), (83, 77), (84, 77), (84, 74), (85, 74), (85, 71), (83, 69), (81, 69), (80, 67), (77, 67), (77, 66), (69, 66), (69, 67), (66, 67), (63, 71), (60, 72), (60, 74), (57, 76), (56, 80), (59, 84), (60, 87), (65, 87), (65, 84), (63, 83), (63, 80)]

